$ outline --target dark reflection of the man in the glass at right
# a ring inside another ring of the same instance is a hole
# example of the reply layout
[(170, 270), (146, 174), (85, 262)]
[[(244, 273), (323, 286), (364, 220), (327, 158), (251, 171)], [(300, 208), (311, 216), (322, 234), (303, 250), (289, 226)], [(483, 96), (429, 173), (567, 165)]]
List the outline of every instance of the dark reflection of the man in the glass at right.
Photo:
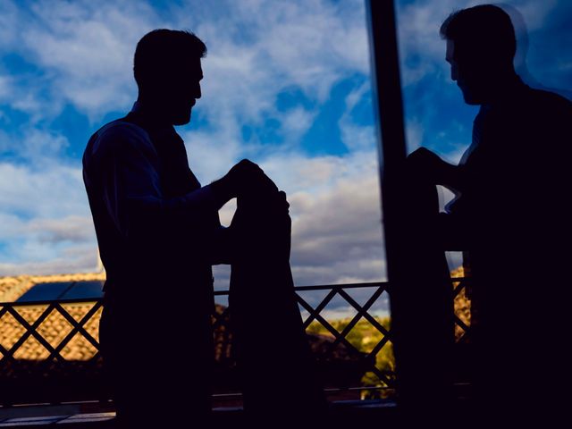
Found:
[[(473, 141), (458, 165), (417, 149), (408, 171), (412, 181), (456, 193), (447, 213), (434, 211), (423, 223), (437, 231), (431, 237), (442, 248), (465, 252), (473, 279), (479, 414), (549, 418), (569, 366), (569, 288), (562, 287), (569, 281), (556, 273), (570, 245), (572, 104), (519, 79), (515, 31), (500, 7), (452, 13), (441, 34), (451, 79), (467, 104), (481, 106)], [(431, 196), (421, 198), (434, 204)]]

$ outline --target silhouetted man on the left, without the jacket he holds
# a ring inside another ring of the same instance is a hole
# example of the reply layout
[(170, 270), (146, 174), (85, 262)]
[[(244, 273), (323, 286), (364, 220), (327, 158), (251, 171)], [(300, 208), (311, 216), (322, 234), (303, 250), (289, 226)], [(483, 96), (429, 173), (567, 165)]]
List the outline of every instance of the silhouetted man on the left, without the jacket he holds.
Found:
[[(247, 160), (204, 187), (190, 171), (173, 125), (188, 123), (201, 97), (204, 55), (205, 44), (186, 31), (156, 29), (141, 38), (137, 102), (97, 130), (83, 156), (107, 275), (101, 348), (127, 427), (181, 425), (209, 413), (211, 265), (231, 258), (231, 229), (217, 211), (245, 189), (272, 183)], [(283, 192), (266, 192), (290, 219)]]

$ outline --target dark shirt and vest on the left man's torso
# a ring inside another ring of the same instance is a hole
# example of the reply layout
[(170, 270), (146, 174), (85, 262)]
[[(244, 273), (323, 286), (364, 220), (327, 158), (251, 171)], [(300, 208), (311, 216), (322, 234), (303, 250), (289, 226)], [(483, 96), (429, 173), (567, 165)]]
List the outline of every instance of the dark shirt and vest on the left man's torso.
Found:
[(153, 123), (136, 103), (89, 139), (83, 178), (106, 289), (140, 272), (149, 281), (212, 282), (209, 246), (221, 228), (219, 203), (190, 171), (172, 126)]

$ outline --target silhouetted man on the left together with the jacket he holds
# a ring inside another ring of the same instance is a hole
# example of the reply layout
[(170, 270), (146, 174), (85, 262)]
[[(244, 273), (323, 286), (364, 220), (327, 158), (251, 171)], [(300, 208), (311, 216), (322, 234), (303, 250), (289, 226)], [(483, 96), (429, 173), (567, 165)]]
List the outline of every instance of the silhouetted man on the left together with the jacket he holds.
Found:
[[(89, 139), (83, 158), (107, 274), (101, 347), (118, 422), (128, 427), (174, 427), (189, 418), (203, 424), (208, 417), (211, 265), (222, 263), (232, 265), (231, 324), (245, 410), (264, 424), (279, 409), (296, 419), (324, 407), (295, 301), (285, 194), (247, 160), (201, 187), (173, 128), (189, 122), (201, 97), (205, 54), (203, 42), (184, 31), (158, 29), (142, 38), (134, 59), (138, 101)], [(223, 228), (217, 211), (231, 198), (238, 210)], [(153, 316), (165, 325), (137, 326)], [(164, 349), (174, 344), (181, 353), (167, 361)]]

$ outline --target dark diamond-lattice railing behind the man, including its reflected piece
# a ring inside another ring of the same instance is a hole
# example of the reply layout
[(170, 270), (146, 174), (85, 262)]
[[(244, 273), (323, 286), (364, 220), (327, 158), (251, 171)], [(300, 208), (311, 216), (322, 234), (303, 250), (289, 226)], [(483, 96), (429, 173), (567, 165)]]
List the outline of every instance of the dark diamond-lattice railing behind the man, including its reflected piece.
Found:
[[(454, 278), (452, 286), (456, 338), (466, 341), (470, 328), (467, 279)], [(357, 381), (361, 389), (391, 390), (395, 386), (395, 373), (389, 283), (295, 289), (300, 310), (306, 316), (308, 340), (318, 361), (335, 368), (332, 374), (346, 370), (354, 373), (353, 378), (348, 377), (338, 387), (350, 387), (351, 383), (355, 387)], [(220, 290), (214, 295), (228, 293)], [(100, 366), (98, 322), (102, 307), (102, 299), (0, 303), (0, 377), (14, 374), (21, 361), (37, 362), (45, 371), (70, 362), (87, 363), (80, 366), (81, 371)], [(232, 365), (230, 320), (230, 308), (217, 306), (213, 314), (215, 357), (229, 366)], [(341, 365), (344, 362), (348, 365)]]

